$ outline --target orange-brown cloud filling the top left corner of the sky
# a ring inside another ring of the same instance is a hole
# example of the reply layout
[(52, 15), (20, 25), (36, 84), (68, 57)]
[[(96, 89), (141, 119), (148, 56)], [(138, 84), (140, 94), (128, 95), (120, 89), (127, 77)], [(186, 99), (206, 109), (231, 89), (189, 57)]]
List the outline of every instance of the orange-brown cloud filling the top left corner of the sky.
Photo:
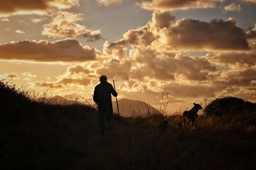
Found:
[(51, 9), (68, 9), (79, 4), (79, 0), (0, 0), (0, 16), (45, 14)]

